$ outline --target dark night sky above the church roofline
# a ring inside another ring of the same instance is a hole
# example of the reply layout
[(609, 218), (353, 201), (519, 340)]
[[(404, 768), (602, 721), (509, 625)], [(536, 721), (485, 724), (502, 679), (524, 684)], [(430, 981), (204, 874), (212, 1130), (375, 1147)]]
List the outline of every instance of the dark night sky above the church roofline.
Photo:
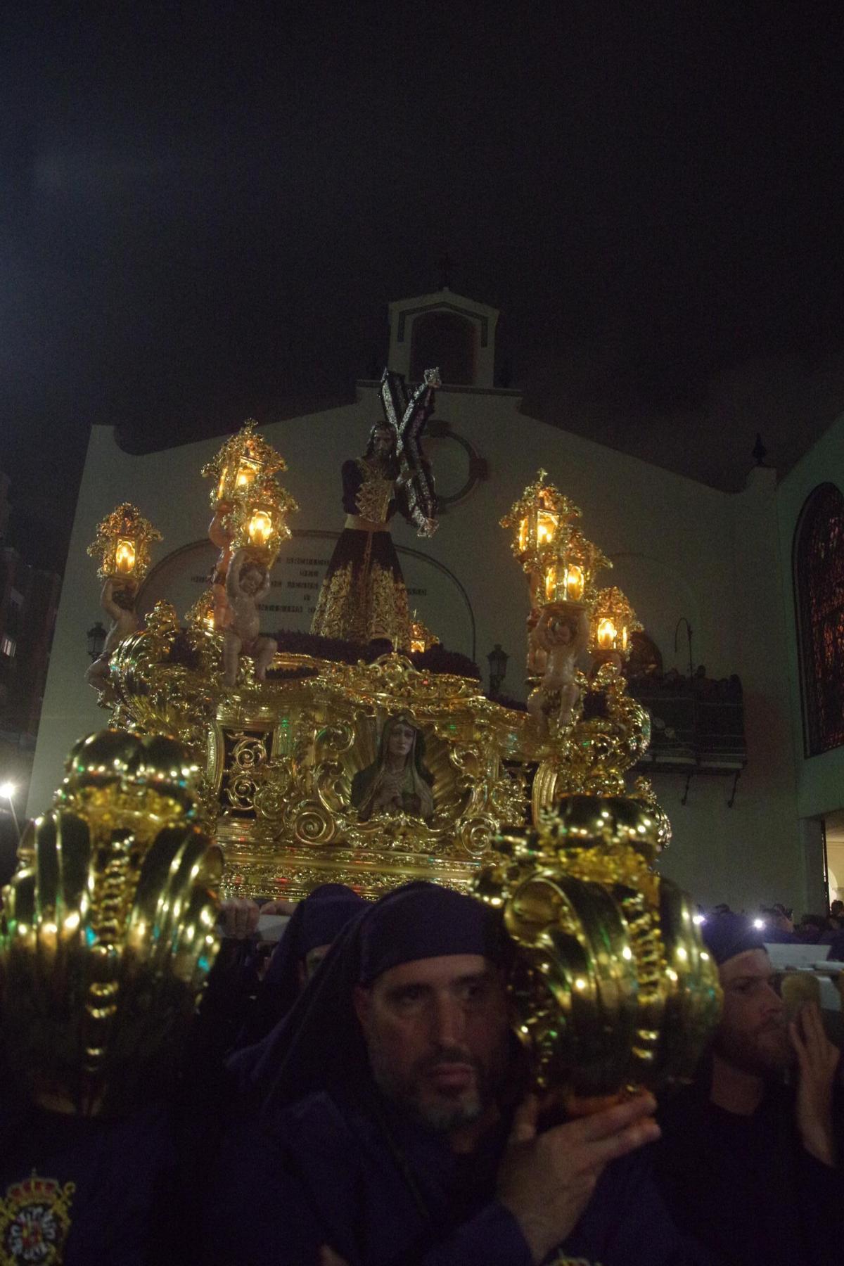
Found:
[(840, 3), (38, 14), (0, 51), (32, 561), (61, 567), (91, 423), (156, 447), (348, 398), (444, 251), (548, 420), (736, 487), (757, 429), (785, 468), (844, 406)]

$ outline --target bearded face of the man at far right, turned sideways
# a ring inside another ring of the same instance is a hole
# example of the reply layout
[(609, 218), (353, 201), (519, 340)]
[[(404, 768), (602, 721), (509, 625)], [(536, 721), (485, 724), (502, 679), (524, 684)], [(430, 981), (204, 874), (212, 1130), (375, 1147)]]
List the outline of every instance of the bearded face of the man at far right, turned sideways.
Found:
[(743, 1072), (772, 1077), (793, 1062), (786, 1009), (764, 950), (747, 950), (720, 968), (724, 1010), (714, 1050)]

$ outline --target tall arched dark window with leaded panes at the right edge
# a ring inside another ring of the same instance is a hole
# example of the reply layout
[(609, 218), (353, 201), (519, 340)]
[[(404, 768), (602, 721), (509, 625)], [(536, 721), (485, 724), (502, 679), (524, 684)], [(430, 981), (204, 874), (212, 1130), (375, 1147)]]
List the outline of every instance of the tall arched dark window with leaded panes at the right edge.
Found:
[(844, 496), (821, 484), (795, 532), (795, 601), (806, 756), (844, 744)]

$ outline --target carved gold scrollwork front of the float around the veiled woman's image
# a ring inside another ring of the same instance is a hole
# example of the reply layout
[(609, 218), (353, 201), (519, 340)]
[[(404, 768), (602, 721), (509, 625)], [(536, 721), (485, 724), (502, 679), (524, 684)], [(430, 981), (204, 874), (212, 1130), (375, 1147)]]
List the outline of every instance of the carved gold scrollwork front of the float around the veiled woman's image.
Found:
[[(277, 655), (285, 677), (224, 690), (215, 637), (201, 615), (180, 633), (162, 604), (119, 647), (113, 680), (123, 718), (177, 736), (205, 766), (201, 812), (224, 848), (228, 893), (302, 896), (349, 872), (366, 895), (406, 877), (466, 889), (495, 832), (524, 822), (528, 718), (477, 681), (400, 655), (371, 665)], [(399, 717), (420, 736), (415, 776), (428, 790), (407, 771), (395, 804), (363, 813), (356, 779), (378, 782), (385, 727)]]

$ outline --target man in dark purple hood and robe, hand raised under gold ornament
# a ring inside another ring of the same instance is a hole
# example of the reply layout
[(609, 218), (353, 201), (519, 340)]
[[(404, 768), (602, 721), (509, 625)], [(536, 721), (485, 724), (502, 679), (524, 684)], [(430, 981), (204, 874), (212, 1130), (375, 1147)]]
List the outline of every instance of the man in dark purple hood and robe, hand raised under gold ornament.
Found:
[(611, 1165), (658, 1137), (653, 1099), (544, 1128), (509, 1023), (510, 955), (496, 912), (430, 884), (345, 929), (273, 1034), (259, 1127), (223, 1156), (209, 1262), (709, 1261), (647, 1166)]

